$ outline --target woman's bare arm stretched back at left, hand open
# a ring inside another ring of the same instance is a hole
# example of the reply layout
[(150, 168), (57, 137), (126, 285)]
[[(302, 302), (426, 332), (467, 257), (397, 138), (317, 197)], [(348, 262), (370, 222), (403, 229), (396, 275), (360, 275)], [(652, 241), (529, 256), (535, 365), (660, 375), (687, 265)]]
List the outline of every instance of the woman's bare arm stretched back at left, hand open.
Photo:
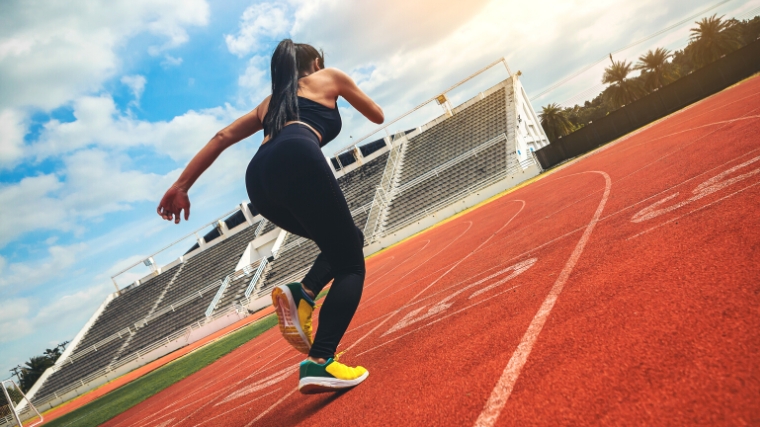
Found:
[(185, 221), (190, 218), (188, 190), (190, 190), (190, 187), (192, 187), (201, 174), (214, 163), (214, 160), (222, 154), (222, 151), (263, 129), (260, 110), (268, 99), (265, 99), (261, 105), (254, 108), (250, 113), (240, 117), (232, 122), (231, 125), (217, 132), (201, 151), (190, 160), (190, 163), (182, 171), (177, 182), (166, 191), (161, 202), (158, 204), (158, 208), (156, 208), (156, 212), (163, 219), (179, 224), (183, 210), (185, 211)]

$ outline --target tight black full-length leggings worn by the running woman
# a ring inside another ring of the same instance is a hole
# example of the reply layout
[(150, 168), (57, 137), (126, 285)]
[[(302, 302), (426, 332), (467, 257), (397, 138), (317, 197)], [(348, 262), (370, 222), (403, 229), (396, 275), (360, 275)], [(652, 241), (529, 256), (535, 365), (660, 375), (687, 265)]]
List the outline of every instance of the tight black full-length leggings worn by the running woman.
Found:
[(259, 148), (245, 184), (253, 206), (278, 227), (309, 238), (321, 253), (303, 279), (318, 295), (330, 280), (309, 356), (328, 359), (354, 317), (364, 287), (364, 236), (338, 186), (319, 140), (300, 124), (285, 126)]

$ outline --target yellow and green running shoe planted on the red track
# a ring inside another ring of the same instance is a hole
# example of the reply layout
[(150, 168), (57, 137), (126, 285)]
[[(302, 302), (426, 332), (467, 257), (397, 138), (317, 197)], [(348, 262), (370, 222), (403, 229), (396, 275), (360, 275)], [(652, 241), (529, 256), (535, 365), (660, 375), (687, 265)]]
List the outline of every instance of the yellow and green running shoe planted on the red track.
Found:
[(362, 366), (352, 368), (330, 358), (324, 365), (304, 360), (300, 374), (298, 390), (303, 394), (313, 394), (355, 387), (367, 379), (369, 371)]

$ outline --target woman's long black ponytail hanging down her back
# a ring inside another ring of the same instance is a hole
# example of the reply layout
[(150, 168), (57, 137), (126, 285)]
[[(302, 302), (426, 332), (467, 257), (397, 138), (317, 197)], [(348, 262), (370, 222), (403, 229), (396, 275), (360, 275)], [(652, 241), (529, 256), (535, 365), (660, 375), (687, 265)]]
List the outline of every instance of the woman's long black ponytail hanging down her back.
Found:
[(298, 64), (293, 40), (285, 39), (272, 54), (272, 99), (264, 116), (270, 138), (280, 133), (285, 123), (298, 120)]

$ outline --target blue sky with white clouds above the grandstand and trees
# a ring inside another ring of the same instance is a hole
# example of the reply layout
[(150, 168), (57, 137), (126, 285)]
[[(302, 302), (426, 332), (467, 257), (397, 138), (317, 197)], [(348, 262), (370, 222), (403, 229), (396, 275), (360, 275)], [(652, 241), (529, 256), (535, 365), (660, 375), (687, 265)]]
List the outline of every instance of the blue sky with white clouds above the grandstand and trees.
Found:
[[(392, 118), (502, 56), (522, 70), (528, 94), (538, 93), (716, 3), (2, 2), (0, 377), (72, 339), (113, 292), (112, 274), (247, 198), (243, 173), (260, 135), (224, 153), (193, 187), (189, 223), (174, 226), (155, 214), (192, 155), (267, 95), (269, 55), (280, 39), (324, 48), (327, 65), (351, 74)], [(710, 14), (758, 6), (732, 0)], [(683, 47), (689, 27), (616, 59)], [(534, 107), (598, 85), (604, 65)], [(461, 102), (505, 77), (494, 69), (452, 98)], [(339, 106), (344, 130), (326, 155), (375, 129)], [(399, 127), (439, 113), (423, 110)], [(133, 269), (121, 284), (144, 272)]]

